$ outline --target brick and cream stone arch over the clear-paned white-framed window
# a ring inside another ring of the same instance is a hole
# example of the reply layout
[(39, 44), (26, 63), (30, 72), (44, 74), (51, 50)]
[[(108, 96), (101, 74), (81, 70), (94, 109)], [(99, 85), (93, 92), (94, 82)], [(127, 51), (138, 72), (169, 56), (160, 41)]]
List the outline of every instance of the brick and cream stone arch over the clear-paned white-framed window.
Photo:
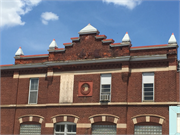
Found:
[(73, 114), (58, 114), (51, 117), (51, 120), (53, 123), (65, 122), (65, 121), (78, 123), (79, 117)]

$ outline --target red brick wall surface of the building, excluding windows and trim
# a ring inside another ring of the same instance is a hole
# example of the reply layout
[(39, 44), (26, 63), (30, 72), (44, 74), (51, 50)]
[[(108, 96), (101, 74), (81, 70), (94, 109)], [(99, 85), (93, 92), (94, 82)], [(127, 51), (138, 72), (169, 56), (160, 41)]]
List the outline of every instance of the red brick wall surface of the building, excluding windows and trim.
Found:
[[(122, 69), (129, 68), (130, 72), (112, 73), (111, 82), (111, 103), (122, 102), (139, 102), (142, 103), (142, 72), (131, 72), (131, 68), (155, 68), (177, 65), (177, 49), (151, 49), (130, 51), (129, 46), (110, 47), (107, 43), (102, 43), (91, 35), (81, 35), (80, 41), (73, 41), (73, 46), (65, 47), (65, 52), (49, 53), (49, 58), (38, 59), (16, 59), (15, 64), (26, 63), (43, 63), (45, 61), (71, 61), (86, 60), (97, 58), (113, 58), (119, 56), (141, 56), (167, 54), (166, 60), (151, 61), (124, 61), (124, 62), (108, 62), (108, 63), (92, 63), (78, 65), (52, 66), (47, 68), (29, 68), (16, 70), (1, 71), (1, 104), (2, 105), (27, 105), (29, 98), (29, 82), (30, 78), (14, 78), (13, 73), (20, 75), (30, 74), (46, 74), (47, 71), (82, 71), (82, 70), (99, 70), (102, 69)], [(90, 46), (90, 47), (89, 47)], [(87, 71), (88, 72), (88, 71)], [(155, 71), (154, 83), (154, 101), (155, 102), (177, 102), (179, 97), (179, 72), (173, 71)], [(93, 83), (93, 92), (90, 97), (78, 96), (79, 82), (90, 81)], [(53, 134), (54, 129), (45, 127), (45, 123), (52, 123), (52, 117), (59, 114), (72, 114), (79, 117), (78, 123), (90, 123), (89, 117), (95, 114), (111, 114), (119, 117), (118, 124), (127, 124), (127, 128), (117, 128), (117, 134), (133, 134), (134, 124), (132, 117), (140, 114), (154, 114), (165, 117), (162, 124), (163, 134), (169, 133), (169, 105), (90, 105), (91, 103), (99, 103), (100, 100), (100, 73), (97, 74), (75, 74), (73, 103), (89, 103), (89, 105), (72, 106), (55, 106), (59, 103), (61, 76), (46, 76), (39, 78), (38, 88), (38, 104), (47, 104), (40, 107), (16, 107), (8, 106), (1, 109), (1, 133), (2, 134), (19, 134), (20, 123), (19, 117), (23, 115), (40, 115), (44, 117), (41, 124), (42, 134)], [(37, 104), (37, 105), (38, 105)], [(50, 105), (51, 104), (51, 105)], [(54, 106), (52, 105), (54, 104)], [(33, 117), (33, 121), (29, 122), (29, 117), (23, 117), (24, 122), (38, 123), (39, 117)], [(56, 117), (57, 122), (63, 122), (63, 116)], [(68, 117), (67, 121), (73, 122), (74, 117)], [(104, 124), (102, 117), (94, 117), (94, 124)], [(106, 121), (113, 124), (114, 117), (106, 117)], [(146, 118), (137, 118), (137, 124), (145, 124)], [(98, 122), (98, 123), (97, 123)], [(105, 122), (107, 124), (107, 122)], [(151, 117), (150, 124), (158, 125), (159, 118)], [(147, 124), (147, 123), (146, 123)], [(91, 134), (91, 128), (77, 128), (77, 134)]]

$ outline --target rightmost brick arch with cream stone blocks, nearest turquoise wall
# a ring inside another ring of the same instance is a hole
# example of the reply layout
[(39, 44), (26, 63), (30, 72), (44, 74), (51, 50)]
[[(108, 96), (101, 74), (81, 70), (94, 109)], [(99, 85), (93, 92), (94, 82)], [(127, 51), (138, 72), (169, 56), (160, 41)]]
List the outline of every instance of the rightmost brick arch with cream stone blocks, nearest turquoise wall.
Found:
[(133, 116), (131, 119), (134, 124), (138, 124), (142, 122), (147, 122), (147, 123), (153, 122), (162, 125), (165, 121), (165, 117), (156, 114), (140, 114)]

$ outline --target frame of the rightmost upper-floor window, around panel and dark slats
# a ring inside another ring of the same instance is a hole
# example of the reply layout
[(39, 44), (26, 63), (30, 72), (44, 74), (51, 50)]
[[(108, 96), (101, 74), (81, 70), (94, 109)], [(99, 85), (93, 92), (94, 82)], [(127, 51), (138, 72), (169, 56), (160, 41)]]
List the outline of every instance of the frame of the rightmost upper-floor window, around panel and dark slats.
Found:
[[(143, 75), (144, 74), (153, 74), (153, 77), (154, 77), (154, 80), (153, 80), (153, 83), (144, 83), (143, 82)], [(144, 99), (144, 84), (153, 84), (153, 100), (145, 100)], [(155, 101), (155, 73), (154, 72), (145, 72), (145, 73), (142, 73), (142, 102), (154, 102)]]

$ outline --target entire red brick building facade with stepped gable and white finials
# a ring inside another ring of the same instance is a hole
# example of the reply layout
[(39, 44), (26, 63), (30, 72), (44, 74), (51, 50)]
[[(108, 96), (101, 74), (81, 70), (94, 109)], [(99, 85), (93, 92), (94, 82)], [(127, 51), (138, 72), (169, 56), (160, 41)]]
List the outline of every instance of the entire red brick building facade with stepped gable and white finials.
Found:
[[(169, 134), (179, 99), (177, 42), (133, 47), (88, 24), (49, 53), (1, 66), (2, 134)], [(178, 123), (177, 123), (178, 124)]]

